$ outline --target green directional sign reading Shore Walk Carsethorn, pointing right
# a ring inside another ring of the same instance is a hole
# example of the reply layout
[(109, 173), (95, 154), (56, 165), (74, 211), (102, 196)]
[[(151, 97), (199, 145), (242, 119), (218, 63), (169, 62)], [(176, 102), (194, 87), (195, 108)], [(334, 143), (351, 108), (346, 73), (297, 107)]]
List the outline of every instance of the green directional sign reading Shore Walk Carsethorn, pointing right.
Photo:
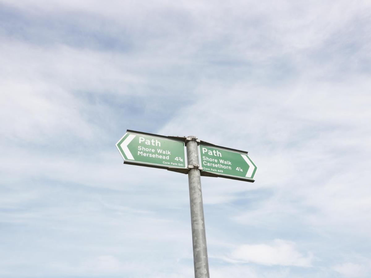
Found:
[(203, 145), (198, 146), (203, 172), (253, 182), (256, 165), (247, 152)]

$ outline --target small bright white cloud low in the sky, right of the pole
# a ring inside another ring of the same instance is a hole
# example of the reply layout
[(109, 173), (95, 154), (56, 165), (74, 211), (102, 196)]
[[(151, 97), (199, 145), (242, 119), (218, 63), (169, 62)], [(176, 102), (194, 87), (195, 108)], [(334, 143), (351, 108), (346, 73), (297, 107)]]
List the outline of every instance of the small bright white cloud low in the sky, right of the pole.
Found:
[(290, 241), (275, 239), (272, 244), (244, 244), (232, 252), (233, 259), (262, 265), (310, 267), (312, 256), (303, 255)]

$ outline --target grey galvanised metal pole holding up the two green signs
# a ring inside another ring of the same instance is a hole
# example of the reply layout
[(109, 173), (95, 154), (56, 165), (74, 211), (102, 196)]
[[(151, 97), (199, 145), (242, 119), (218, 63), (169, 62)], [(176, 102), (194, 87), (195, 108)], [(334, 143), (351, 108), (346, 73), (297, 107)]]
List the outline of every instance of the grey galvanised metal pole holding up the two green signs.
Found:
[(193, 264), (195, 278), (210, 278), (207, 259), (204, 208), (201, 191), (201, 175), (198, 169), (198, 148), (194, 136), (186, 143), (188, 165), (189, 199), (191, 206), (191, 225), (193, 241)]

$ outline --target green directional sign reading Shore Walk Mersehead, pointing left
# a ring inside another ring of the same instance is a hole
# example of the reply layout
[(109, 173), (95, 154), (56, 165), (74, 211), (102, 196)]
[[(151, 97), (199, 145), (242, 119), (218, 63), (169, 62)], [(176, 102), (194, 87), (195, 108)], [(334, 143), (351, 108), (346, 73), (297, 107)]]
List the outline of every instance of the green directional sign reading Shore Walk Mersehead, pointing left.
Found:
[(128, 130), (116, 147), (124, 163), (157, 168), (187, 168), (182, 140)]

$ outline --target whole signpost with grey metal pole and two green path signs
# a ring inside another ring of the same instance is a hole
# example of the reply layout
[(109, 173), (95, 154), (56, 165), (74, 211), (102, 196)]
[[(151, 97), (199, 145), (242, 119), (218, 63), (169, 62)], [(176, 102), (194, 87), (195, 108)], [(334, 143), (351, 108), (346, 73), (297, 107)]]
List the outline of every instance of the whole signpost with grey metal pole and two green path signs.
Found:
[[(188, 174), (195, 278), (210, 278), (201, 176), (254, 182), (256, 165), (247, 152), (198, 140), (127, 130), (116, 143), (125, 164)], [(187, 159), (185, 152), (187, 152)]]

